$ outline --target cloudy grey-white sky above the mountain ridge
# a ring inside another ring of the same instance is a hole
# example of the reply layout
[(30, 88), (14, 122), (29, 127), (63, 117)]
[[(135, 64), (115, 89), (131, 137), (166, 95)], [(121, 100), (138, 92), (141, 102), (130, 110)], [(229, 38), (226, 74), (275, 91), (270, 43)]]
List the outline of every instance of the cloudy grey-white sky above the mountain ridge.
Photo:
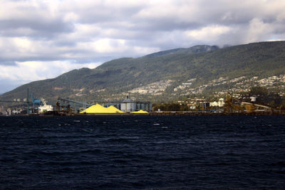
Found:
[(284, 0), (0, 0), (0, 93), (115, 58), (285, 40)]

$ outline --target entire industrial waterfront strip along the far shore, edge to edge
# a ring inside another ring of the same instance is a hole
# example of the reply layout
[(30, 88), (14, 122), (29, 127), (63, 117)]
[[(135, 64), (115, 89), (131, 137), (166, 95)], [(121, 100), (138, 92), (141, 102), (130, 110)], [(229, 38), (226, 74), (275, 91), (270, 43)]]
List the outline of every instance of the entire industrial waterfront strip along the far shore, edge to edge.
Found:
[[(0, 115), (284, 115), (284, 110), (275, 109), (269, 105), (257, 102), (256, 97), (250, 97), (248, 102), (235, 101), (232, 96), (226, 100), (220, 98), (218, 102), (196, 100), (187, 103), (178, 101), (177, 104), (186, 105), (187, 110), (160, 110), (149, 101), (139, 101), (127, 96), (123, 100), (94, 100), (81, 102), (70, 98), (58, 97), (54, 105), (46, 102), (43, 97), (36, 98), (33, 94), (23, 100), (0, 100), (13, 106), (1, 106)], [(163, 104), (162, 104), (163, 105)], [(160, 106), (158, 106), (160, 107)], [(199, 107), (199, 108), (197, 108)]]

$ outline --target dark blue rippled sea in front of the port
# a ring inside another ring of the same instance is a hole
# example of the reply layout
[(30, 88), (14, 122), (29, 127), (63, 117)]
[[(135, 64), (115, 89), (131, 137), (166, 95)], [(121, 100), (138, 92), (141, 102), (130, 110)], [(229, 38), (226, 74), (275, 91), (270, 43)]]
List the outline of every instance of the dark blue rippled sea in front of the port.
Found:
[(0, 189), (285, 189), (284, 115), (0, 117)]

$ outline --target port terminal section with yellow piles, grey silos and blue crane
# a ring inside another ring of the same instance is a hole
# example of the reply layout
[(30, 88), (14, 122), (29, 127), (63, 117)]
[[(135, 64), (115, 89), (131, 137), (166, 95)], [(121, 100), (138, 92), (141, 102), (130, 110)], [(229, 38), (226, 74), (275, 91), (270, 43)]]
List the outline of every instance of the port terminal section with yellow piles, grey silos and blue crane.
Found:
[(147, 114), (152, 112), (152, 103), (129, 98), (124, 100), (96, 100), (93, 102), (80, 102), (69, 98), (58, 97), (55, 105), (46, 100), (36, 98), (33, 94), (23, 100), (0, 100), (14, 104), (13, 107), (0, 107), (0, 115), (81, 115), (81, 114)]

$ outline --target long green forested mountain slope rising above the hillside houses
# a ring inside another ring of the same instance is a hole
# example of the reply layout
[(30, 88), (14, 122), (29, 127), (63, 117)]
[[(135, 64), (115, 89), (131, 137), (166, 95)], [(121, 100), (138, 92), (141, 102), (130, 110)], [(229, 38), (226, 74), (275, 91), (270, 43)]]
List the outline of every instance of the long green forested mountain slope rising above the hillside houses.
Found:
[[(57, 97), (86, 101), (112, 99), (123, 97), (130, 90), (148, 88), (155, 83), (165, 86), (157, 93), (160, 99), (171, 99), (175, 96), (175, 88), (187, 81), (195, 81), (191, 82), (195, 88), (218, 78), (230, 80), (284, 74), (284, 60), (285, 41), (249, 43), (225, 48), (177, 48), (140, 58), (110, 60), (95, 69), (71, 70), (57, 78), (22, 85), (1, 95), (0, 100), (24, 98), (27, 88), (35, 97), (45, 97), (47, 100), (56, 100)], [(218, 88), (226, 87), (219, 85)], [(142, 98), (157, 95), (148, 93)]]

